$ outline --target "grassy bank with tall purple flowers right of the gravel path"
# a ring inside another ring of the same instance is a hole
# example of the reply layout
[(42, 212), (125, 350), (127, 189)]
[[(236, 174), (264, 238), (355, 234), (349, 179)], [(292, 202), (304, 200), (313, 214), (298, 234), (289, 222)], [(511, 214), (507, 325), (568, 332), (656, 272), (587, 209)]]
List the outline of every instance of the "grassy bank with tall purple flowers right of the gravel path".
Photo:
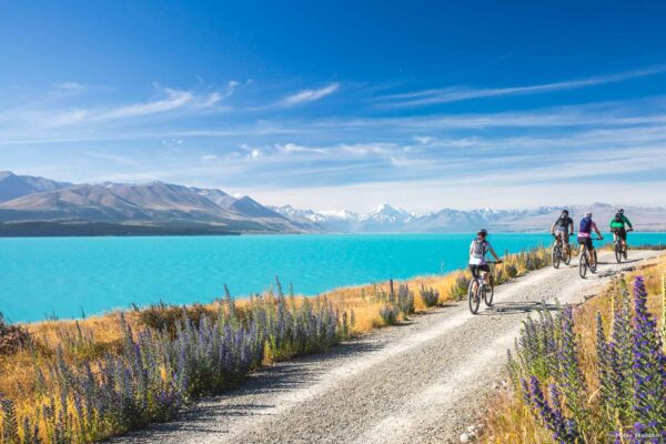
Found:
[(486, 412), (486, 443), (666, 440), (666, 256), (602, 294), (528, 322), (509, 360), (513, 390)]

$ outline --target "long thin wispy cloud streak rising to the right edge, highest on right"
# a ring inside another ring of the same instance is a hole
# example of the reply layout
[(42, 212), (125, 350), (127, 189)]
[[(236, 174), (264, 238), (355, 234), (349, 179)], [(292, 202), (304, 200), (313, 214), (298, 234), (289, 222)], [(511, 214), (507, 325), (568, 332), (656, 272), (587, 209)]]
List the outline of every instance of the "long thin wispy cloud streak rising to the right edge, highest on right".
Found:
[(537, 94), (552, 91), (575, 90), (579, 88), (596, 87), (606, 83), (617, 83), (629, 79), (654, 75), (666, 71), (666, 67), (657, 67), (636, 71), (626, 71), (609, 75), (597, 75), (587, 79), (568, 80), (563, 82), (534, 84), (511, 88), (468, 88), (450, 87), (443, 89), (428, 89), (404, 93), (385, 94), (375, 100), (386, 108), (412, 108), (437, 103), (458, 102), (463, 100), (518, 94)]

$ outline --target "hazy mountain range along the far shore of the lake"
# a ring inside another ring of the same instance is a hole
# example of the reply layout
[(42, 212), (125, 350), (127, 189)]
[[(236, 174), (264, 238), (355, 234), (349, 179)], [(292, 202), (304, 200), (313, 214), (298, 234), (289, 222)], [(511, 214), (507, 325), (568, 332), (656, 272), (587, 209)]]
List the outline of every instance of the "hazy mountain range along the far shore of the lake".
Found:
[[(625, 206), (638, 230), (666, 230), (666, 209)], [(0, 235), (232, 234), (232, 233), (436, 233), (545, 231), (561, 208), (454, 210), (414, 213), (383, 204), (369, 213), (265, 206), (250, 196), (163, 182), (73, 184), (0, 172)], [(605, 225), (615, 206), (592, 211)]]

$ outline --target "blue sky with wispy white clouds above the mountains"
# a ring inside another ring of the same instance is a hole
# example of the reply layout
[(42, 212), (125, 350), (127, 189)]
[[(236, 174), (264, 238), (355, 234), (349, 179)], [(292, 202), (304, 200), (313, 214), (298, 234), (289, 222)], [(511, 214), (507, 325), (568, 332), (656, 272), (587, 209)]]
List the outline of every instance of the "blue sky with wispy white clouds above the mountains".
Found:
[(319, 210), (666, 205), (666, 3), (281, 3), (0, 1), (0, 170)]

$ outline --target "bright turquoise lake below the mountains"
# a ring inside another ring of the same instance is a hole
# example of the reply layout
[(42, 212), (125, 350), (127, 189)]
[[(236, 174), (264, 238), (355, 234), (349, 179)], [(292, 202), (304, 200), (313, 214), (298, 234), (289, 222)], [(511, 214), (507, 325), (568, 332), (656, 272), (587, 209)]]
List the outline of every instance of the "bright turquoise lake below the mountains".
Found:
[[(266, 290), (274, 276), (316, 294), (466, 265), (472, 234), (0, 239), (0, 311), (10, 321), (80, 317), (130, 303), (210, 302)], [(609, 239), (609, 235), (605, 238)], [(497, 253), (549, 244), (548, 234), (493, 234)], [(666, 233), (632, 233), (632, 244)]]

